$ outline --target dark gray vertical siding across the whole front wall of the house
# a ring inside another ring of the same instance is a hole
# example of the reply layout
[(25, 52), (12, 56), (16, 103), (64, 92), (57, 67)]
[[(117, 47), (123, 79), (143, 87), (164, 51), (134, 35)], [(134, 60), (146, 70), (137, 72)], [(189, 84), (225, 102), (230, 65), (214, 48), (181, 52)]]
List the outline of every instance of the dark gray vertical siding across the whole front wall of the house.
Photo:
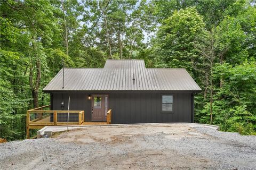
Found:
[[(109, 95), (109, 108), (112, 109), (112, 123), (157, 123), (157, 122), (191, 122), (193, 106), (191, 93), (188, 92), (65, 92), (64, 110), (85, 111), (85, 121), (91, 121), (92, 94)], [(173, 95), (173, 113), (162, 113), (162, 95)], [(62, 94), (52, 94), (52, 109), (61, 110)]]

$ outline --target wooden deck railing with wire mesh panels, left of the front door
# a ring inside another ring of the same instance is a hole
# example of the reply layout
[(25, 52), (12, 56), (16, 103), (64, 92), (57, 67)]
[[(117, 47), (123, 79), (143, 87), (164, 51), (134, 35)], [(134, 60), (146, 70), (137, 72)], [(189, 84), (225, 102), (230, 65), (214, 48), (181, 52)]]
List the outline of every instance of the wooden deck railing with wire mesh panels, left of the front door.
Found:
[(27, 138), (29, 129), (40, 129), (44, 126), (81, 125), (84, 122), (84, 111), (50, 111), (50, 105), (30, 109), (27, 111)]

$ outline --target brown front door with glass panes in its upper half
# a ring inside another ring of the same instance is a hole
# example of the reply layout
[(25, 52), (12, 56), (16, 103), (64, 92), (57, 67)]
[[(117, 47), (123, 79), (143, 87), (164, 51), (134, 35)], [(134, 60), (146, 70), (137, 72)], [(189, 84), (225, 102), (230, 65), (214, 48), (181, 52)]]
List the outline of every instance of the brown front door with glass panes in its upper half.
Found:
[(103, 95), (92, 96), (92, 121), (105, 120), (105, 103)]

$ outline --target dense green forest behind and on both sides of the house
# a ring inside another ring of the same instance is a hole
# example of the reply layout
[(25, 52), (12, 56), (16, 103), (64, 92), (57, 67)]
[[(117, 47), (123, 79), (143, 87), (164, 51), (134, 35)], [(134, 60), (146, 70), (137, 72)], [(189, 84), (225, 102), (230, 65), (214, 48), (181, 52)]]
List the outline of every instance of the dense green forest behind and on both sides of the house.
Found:
[(255, 1), (1, 0), (0, 14), (0, 138), (25, 139), (62, 62), (107, 59), (186, 68), (202, 89), (196, 123), (256, 135)]

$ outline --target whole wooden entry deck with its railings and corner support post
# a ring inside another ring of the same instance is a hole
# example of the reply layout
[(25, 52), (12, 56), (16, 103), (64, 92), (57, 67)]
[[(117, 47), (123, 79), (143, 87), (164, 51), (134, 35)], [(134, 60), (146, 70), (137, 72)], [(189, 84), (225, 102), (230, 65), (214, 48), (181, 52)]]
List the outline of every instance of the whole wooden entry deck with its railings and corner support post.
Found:
[[(69, 122), (69, 125), (100, 125), (100, 124), (111, 124), (111, 109), (109, 109), (107, 113), (107, 121), (106, 122), (86, 122), (84, 120), (84, 111), (50, 111), (44, 110), (45, 108), (50, 107), (50, 105), (38, 107), (35, 109), (31, 109), (27, 111), (27, 139), (29, 139), (29, 129), (41, 129), (45, 126), (60, 126), (67, 125), (67, 120), (59, 120), (58, 117), (63, 118), (62, 114), (66, 114), (69, 112), (69, 115), (77, 115), (77, 119), (73, 120), (73, 122)], [(52, 119), (51, 119), (52, 116)], [(64, 116), (64, 117), (65, 117)], [(70, 121), (70, 120), (69, 120)], [(74, 122), (75, 121), (75, 122)]]

